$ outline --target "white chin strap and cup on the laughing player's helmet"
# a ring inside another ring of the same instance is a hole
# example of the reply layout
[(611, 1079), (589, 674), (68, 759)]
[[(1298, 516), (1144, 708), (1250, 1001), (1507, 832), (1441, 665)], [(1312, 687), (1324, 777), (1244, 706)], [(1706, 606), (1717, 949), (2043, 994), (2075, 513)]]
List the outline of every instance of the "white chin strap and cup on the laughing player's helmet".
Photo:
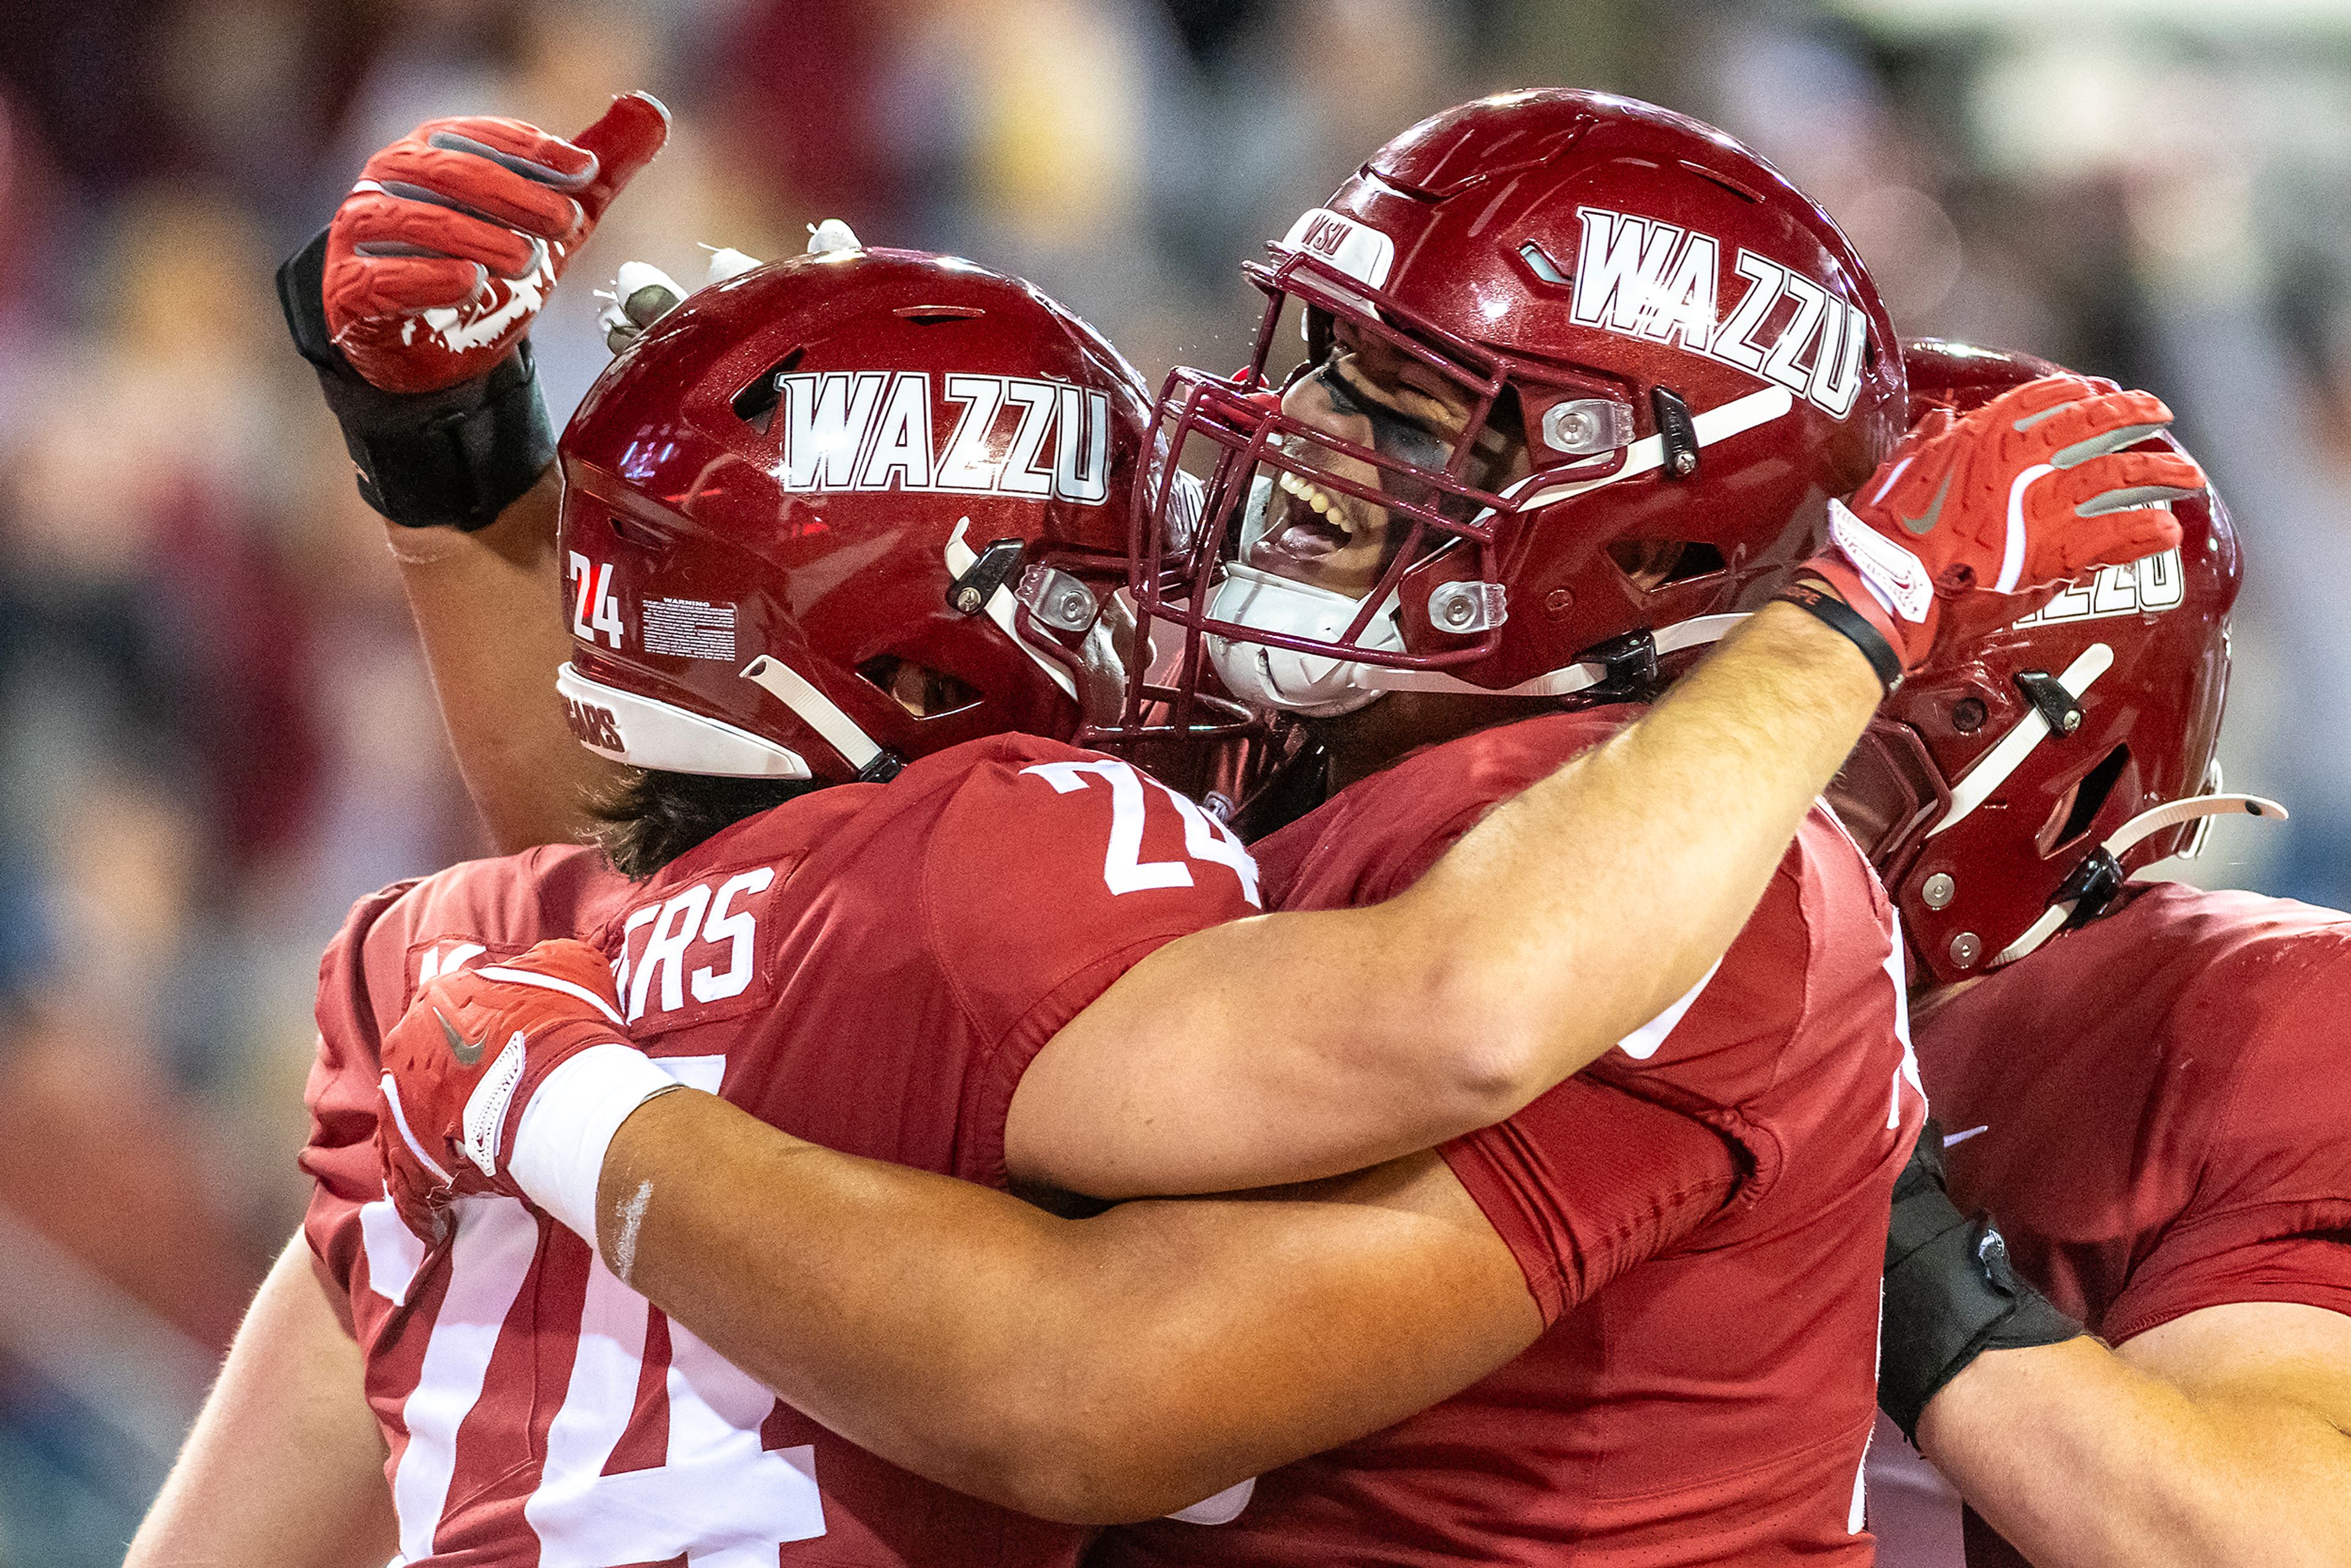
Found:
[[(1349, 599), (1342, 592), (1310, 588), (1305, 583), (1274, 576), (1272, 571), (1258, 571), (1255, 567), (1241, 564), (1225, 567), (1225, 581), (1215, 585), (1215, 595), (1208, 599), (1208, 614), (1218, 621), (1232, 621), (1260, 632), (1314, 637), (1317, 642), (1338, 642), (1361, 609), (1361, 599)], [(1744, 618), (1744, 614), (1695, 616), (1690, 621), (1657, 628), (1650, 639), (1655, 642), (1657, 654), (1679, 654), (1683, 649), (1721, 642), (1730, 628)], [(1364, 625), (1357, 646), (1373, 651), (1404, 649), (1404, 630), (1396, 623), (1394, 595), (1389, 595), (1389, 602)], [(1279, 708), (1310, 719), (1328, 719), (1342, 712), (1354, 712), (1382, 691), (1573, 696), (1599, 686), (1610, 675), (1608, 665), (1601, 663), (1573, 663), (1519, 682), (1516, 686), (1493, 689), (1465, 682), (1458, 675), (1446, 675), (1444, 670), (1399, 670), (1352, 658), (1293, 654), (1291, 649), (1274, 649), (1262, 642), (1239, 642), (1230, 637), (1211, 637), (1208, 658), (1215, 663), (1218, 679), (1223, 679), (1225, 686), (1244, 703)]]

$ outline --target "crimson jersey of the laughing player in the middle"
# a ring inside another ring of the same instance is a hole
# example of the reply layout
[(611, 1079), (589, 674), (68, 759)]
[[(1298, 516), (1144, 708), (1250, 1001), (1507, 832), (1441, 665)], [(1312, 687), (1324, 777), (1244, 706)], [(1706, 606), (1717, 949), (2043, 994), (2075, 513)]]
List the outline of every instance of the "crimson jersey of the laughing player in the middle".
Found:
[[(1357, 783), (1258, 844), (1267, 891), (1291, 910), (1387, 898), (1634, 712), (1488, 729)], [(1714, 1166), (1603, 1145), (1594, 1079), (1712, 1128)], [(1886, 1208), (1921, 1119), (1893, 914), (1815, 811), (1693, 999), (1444, 1147), (1545, 1335), (1455, 1399), (1260, 1476), (1234, 1523), (1131, 1526), (1093, 1561), (1869, 1563)], [(1594, 1232), (1594, 1213), (1636, 1222)]]

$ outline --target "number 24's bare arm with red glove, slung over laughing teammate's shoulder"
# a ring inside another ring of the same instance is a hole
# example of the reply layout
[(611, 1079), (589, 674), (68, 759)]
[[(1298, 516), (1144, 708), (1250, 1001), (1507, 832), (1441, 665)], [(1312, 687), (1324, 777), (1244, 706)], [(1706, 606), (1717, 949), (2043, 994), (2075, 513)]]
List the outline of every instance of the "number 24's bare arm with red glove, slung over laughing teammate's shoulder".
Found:
[[(1199, 931), (1131, 969), (1020, 1079), (1011, 1168), (1096, 1197), (1218, 1192), (1509, 1117), (1723, 957), (1881, 679), (1935, 644), (1944, 602), (1987, 614), (1991, 585), (2031, 592), (2177, 543), (2144, 498), (2203, 473), (2116, 451), (2168, 418), (2146, 393), (2045, 376), (1923, 423), (1834, 508), (1836, 548), (1806, 581), (1836, 592), (1766, 607), (1411, 891)], [(2071, 461), (2064, 484), (2012, 505), (2012, 480), (2052, 454)], [(2099, 512), (2109, 494), (2137, 503)], [(1940, 522), (1918, 534), (1916, 515)]]

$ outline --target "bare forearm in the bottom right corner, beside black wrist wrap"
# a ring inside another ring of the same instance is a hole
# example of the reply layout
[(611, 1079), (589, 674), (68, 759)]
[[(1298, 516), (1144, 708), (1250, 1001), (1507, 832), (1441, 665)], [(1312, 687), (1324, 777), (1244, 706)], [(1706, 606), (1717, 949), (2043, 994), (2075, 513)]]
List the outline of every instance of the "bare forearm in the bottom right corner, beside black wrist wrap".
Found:
[(2351, 1436), (2292, 1401), (2191, 1396), (2088, 1338), (1980, 1356), (1918, 1446), (2038, 1568), (2351, 1556)]

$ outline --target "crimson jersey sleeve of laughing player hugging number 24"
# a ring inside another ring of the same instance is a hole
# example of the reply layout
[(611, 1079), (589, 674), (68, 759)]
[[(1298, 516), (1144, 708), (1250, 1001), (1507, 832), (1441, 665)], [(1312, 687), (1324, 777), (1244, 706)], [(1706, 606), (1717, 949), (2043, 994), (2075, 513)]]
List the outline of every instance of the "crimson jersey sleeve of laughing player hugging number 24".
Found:
[(1519, 1260), (1545, 1326), (1690, 1237), (1744, 1175), (1707, 1124), (1585, 1077), (1439, 1154)]

